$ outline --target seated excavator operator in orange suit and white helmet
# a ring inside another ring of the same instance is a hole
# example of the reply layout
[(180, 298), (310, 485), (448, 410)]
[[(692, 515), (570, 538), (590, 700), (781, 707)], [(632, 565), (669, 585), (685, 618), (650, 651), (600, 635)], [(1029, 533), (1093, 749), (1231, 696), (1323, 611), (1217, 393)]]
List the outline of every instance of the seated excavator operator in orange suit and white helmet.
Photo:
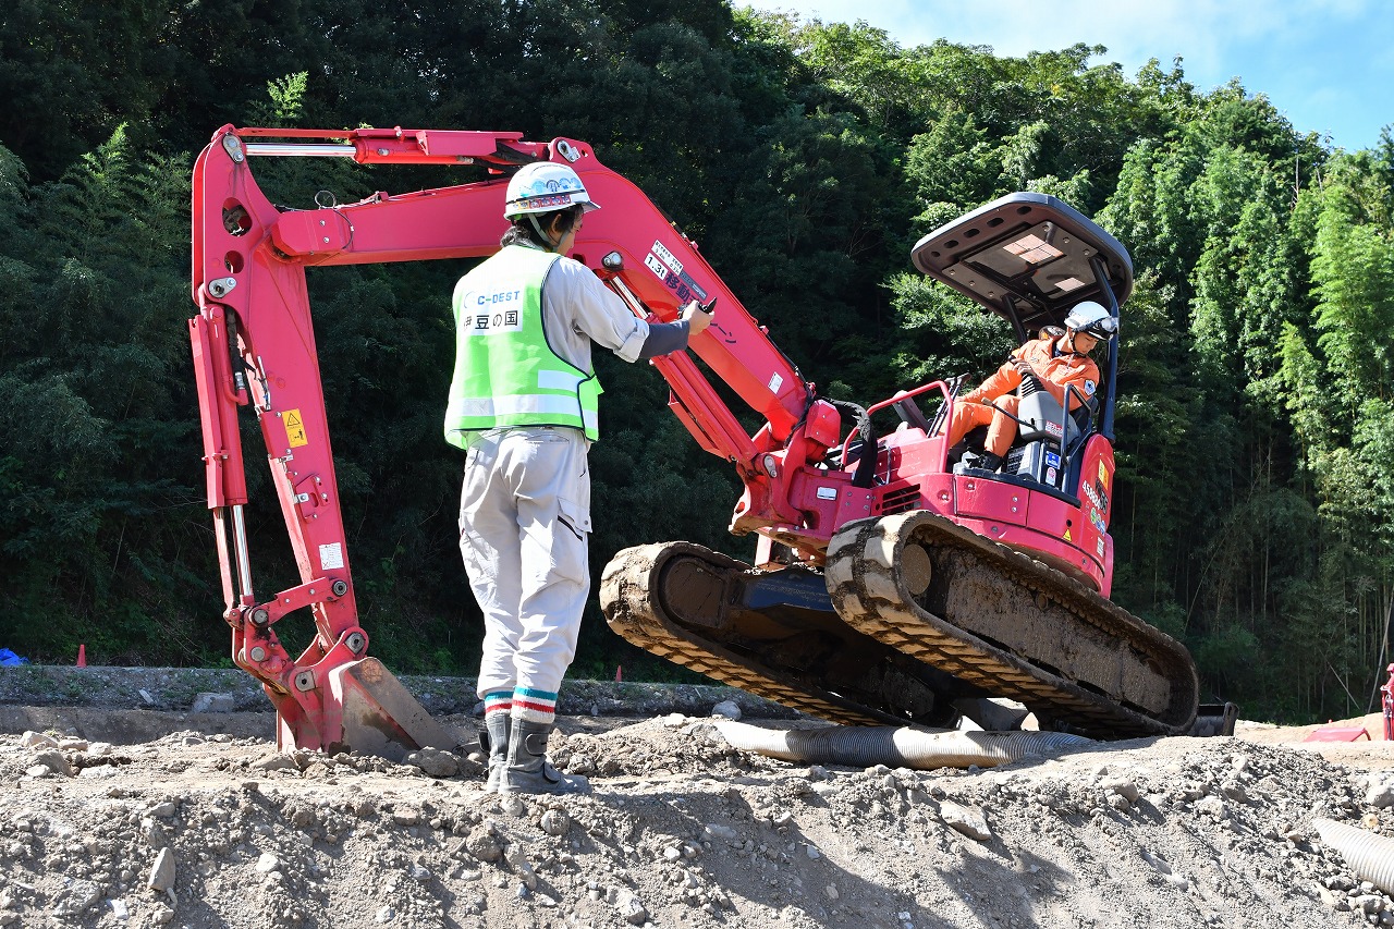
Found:
[(1117, 332), (1118, 319), (1103, 305), (1093, 300), (1076, 305), (1065, 317), (1064, 335), (1059, 335), (1059, 329), (1043, 329), (1037, 339), (1016, 349), (1006, 364), (953, 403), (949, 448), (958, 445), (974, 427), (986, 425), (987, 441), (977, 467), (998, 470), (1016, 438), (1016, 420), (1012, 417), (1016, 416), (1019, 398), (1012, 391), (1023, 379), (1032, 378), (1062, 406), (1068, 393), (1071, 410), (1092, 402), (1098, 388), (1098, 365), (1089, 353)]

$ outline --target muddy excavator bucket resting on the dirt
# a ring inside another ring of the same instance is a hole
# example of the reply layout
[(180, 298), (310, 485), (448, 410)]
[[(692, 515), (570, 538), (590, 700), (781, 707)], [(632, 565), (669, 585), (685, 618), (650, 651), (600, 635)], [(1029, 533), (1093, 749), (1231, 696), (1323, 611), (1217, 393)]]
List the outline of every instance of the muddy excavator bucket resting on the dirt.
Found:
[[(376, 658), (351, 661), (326, 677), (322, 732), (326, 752), (357, 752), (400, 762), (422, 748), (459, 748), (457, 735), (436, 723)], [(279, 724), (280, 748), (296, 748), (296, 727), (284, 717)]]

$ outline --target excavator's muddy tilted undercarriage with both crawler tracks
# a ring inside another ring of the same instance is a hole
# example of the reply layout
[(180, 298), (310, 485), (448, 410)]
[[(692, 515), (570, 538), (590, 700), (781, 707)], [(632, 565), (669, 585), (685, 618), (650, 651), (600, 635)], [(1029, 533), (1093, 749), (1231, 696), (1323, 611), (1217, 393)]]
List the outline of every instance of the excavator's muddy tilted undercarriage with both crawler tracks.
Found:
[(1182, 646), (926, 511), (846, 526), (821, 573), (691, 543), (629, 548), (601, 603), (638, 647), (838, 723), (952, 727), (986, 696), (1094, 738), (1185, 734), (1196, 718)]

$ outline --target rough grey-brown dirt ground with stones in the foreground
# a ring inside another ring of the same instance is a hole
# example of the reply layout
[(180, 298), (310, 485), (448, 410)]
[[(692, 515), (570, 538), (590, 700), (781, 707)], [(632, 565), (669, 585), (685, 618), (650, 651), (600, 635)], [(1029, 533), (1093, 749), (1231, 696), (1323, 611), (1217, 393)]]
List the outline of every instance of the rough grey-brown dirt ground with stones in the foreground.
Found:
[(705, 716), (583, 713), (551, 753), (594, 791), (539, 799), (485, 794), (466, 752), (277, 755), (265, 713), (8, 710), (52, 724), (0, 735), (8, 929), (1394, 925), (1312, 824), (1394, 834), (1377, 716), (1345, 723), (1376, 741), (1241, 723), (912, 771), (742, 752)]

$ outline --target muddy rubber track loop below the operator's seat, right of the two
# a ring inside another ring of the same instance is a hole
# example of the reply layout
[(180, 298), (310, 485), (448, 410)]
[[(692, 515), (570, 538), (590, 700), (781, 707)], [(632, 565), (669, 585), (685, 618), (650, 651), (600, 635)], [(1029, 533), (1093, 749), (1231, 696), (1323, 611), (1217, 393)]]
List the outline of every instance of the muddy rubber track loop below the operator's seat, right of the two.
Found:
[[(899, 545), (912, 534), (931, 548), (967, 551), (990, 562), (1002, 583), (1050, 597), (1079, 622), (1129, 643), (1139, 661), (1160, 668), (1174, 686), (1165, 711), (1171, 718), (1115, 703), (920, 608), (887, 564), (898, 561)], [(846, 526), (828, 545), (825, 575), (838, 615), (857, 630), (1085, 735), (1175, 735), (1188, 731), (1195, 718), (1199, 682), (1181, 644), (1061, 572), (935, 513), (914, 511)]]

